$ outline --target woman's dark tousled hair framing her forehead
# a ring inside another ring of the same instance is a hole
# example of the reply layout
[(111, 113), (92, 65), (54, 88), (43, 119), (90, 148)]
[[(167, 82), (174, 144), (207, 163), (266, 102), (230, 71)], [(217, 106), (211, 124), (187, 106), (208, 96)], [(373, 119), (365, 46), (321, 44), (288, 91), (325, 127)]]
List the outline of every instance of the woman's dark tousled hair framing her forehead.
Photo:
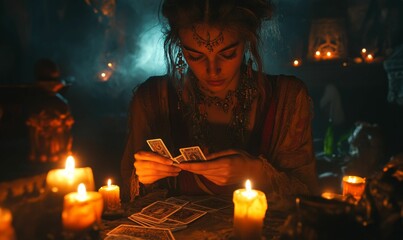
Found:
[[(179, 30), (194, 24), (233, 30), (248, 44), (257, 70), (262, 73), (258, 51), (260, 31), (264, 20), (270, 19), (272, 6), (268, 0), (162, 0), (165, 58), (168, 74), (175, 74), (175, 58), (179, 51)], [(260, 76), (261, 74), (259, 74)]]

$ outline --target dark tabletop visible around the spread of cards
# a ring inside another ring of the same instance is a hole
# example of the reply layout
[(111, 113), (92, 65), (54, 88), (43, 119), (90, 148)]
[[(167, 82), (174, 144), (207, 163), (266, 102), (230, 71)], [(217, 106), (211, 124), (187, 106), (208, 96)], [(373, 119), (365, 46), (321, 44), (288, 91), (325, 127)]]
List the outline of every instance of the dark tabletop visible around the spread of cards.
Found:
[[(186, 199), (190, 203), (208, 198), (210, 196), (178, 196)], [(232, 196), (231, 196), (232, 197)], [(134, 222), (127, 217), (133, 213), (140, 212), (141, 209), (155, 201), (164, 200), (167, 196), (165, 192), (155, 192), (136, 199), (132, 203), (122, 205), (123, 214), (115, 216), (114, 219), (103, 217), (100, 236), (104, 239), (107, 233), (120, 224), (132, 224)], [(229, 196), (219, 196), (219, 198), (231, 201)], [(207, 212), (201, 218), (188, 224), (187, 228), (172, 232), (176, 240), (181, 239), (231, 239), (233, 235), (233, 205), (230, 207)], [(287, 213), (280, 211), (267, 211), (262, 239), (276, 239), (280, 234), (280, 227), (283, 225)]]

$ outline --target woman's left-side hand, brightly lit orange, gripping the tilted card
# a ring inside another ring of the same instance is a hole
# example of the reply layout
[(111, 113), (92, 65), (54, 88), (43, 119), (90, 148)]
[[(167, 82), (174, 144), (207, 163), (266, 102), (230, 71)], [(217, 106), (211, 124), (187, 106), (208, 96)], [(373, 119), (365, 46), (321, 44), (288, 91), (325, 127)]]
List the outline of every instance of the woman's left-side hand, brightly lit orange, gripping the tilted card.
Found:
[(181, 169), (173, 165), (172, 159), (154, 152), (139, 151), (134, 154), (134, 167), (139, 181), (151, 184), (165, 177), (178, 176)]

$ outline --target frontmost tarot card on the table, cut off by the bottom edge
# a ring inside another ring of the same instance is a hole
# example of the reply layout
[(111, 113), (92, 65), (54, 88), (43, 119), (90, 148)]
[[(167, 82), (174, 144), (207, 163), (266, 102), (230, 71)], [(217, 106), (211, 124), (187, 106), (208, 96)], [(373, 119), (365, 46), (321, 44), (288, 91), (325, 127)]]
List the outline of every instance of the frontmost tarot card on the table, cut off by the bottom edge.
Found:
[(112, 229), (107, 235), (130, 236), (135, 239), (158, 239), (174, 240), (174, 236), (169, 229), (155, 227), (141, 227), (129, 224), (121, 224)]

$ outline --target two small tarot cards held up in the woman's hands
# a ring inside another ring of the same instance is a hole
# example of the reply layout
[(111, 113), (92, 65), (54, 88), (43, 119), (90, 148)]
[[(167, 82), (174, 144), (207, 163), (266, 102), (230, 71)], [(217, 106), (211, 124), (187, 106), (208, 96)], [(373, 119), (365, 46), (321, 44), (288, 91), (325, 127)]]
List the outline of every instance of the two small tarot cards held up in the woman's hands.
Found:
[(149, 139), (147, 140), (147, 143), (148, 146), (150, 146), (151, 151), (166, 158), (170, 158), (176, 163), (206, 160), (206, 157), (199, 146), (180, 148), (179, 151), (181, 152), (181, 155), (172, 157), (172, 154), (169, 152), (161, 138)]

